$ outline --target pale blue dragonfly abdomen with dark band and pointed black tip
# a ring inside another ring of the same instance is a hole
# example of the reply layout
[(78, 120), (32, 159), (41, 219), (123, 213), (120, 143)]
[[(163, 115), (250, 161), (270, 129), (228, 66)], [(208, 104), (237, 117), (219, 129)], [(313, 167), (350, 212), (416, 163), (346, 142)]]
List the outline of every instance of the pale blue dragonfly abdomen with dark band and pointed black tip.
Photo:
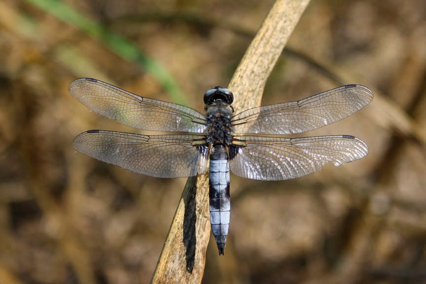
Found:
[(229, 158), (224, 145), (214, 145), (209, 170), (210, 222), (219, 254), (223, 254), (229, 229)]

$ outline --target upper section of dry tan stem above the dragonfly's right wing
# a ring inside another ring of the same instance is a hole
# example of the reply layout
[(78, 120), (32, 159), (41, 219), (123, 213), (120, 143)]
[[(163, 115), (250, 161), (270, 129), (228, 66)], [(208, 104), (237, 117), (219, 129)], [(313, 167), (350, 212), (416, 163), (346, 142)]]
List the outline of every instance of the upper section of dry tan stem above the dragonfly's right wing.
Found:
[(260, 105), (266, 80), (308, 3), (279, 0), (272, 7), (229, 83), (237, 113)]

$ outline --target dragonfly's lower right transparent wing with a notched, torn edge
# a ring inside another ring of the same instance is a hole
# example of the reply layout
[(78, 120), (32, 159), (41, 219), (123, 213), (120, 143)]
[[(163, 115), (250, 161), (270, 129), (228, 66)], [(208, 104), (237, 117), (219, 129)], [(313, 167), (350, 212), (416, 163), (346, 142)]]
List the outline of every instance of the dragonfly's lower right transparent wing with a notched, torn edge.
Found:
[(233, 145), (240, 148), (229, 162), (231, 171), (260, 180), (298, 178), (320, 171), (328, 162), (337, 167), (368, 153), (364, 142), (346, 135), (294, 139), (235, 136)]

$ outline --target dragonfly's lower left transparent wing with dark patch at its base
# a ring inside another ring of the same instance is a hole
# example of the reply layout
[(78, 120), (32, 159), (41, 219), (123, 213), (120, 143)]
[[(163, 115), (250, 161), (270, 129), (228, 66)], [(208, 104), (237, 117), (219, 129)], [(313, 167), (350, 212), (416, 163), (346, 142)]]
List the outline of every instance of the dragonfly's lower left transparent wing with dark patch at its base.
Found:
[(206, 169), (208, 147), (201, 135), (146, 136), (90, 130), (78, 135), (77, 151), (132, 172), (159, 178), (192, 177)]

